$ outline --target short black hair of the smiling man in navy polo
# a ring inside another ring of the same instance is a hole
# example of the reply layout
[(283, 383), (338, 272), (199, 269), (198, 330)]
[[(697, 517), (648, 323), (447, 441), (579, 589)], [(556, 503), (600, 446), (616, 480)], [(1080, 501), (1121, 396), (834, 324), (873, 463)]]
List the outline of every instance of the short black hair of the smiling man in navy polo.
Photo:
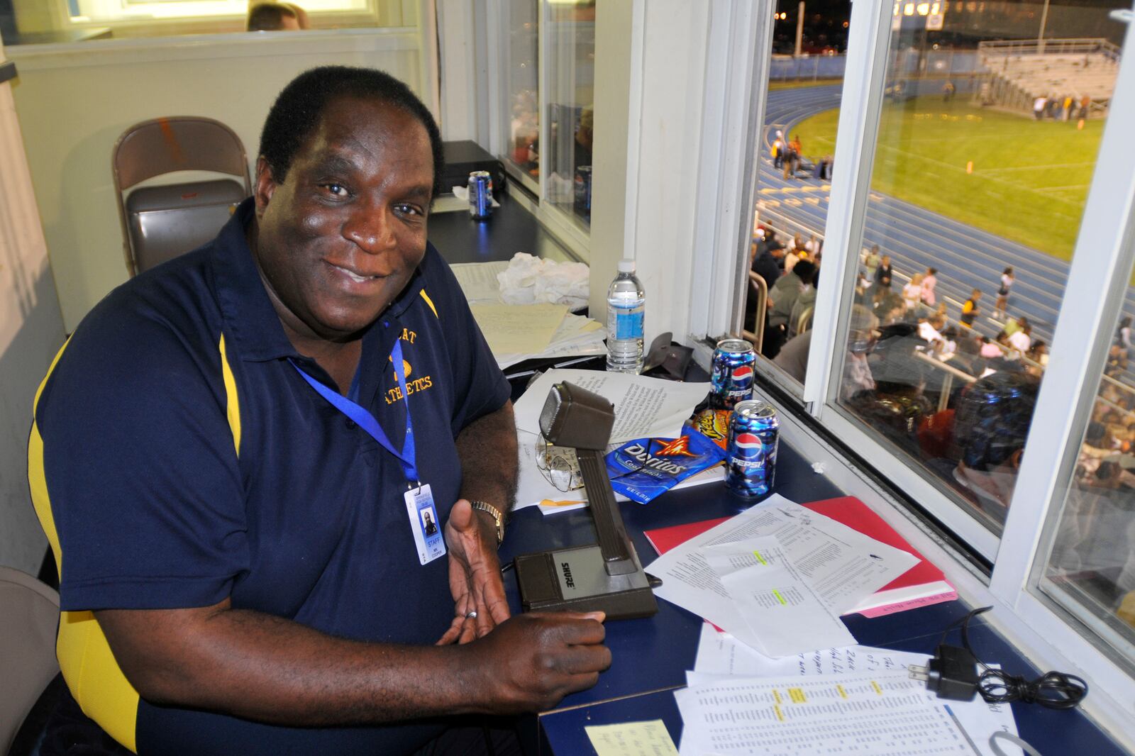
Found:
[(442, 133), (429, 109), (410, 87), (376, 68), (321, 66), (296, 76), (276, 98), (260, 133), (260, 157), (283, 182), (296, 153), (319, 126), (327, 104), (337, 98), (378, 100), (402, 108), (426, 127), (434, 153), (434, 196), (440, 191)]

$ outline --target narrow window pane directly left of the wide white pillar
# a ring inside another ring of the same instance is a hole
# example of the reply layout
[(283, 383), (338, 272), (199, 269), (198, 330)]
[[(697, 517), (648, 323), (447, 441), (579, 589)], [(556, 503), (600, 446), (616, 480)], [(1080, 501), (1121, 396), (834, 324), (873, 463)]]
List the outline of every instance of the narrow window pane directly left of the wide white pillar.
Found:
[(583, 228), (591, 220), (591, 149), (595, 124), (595, 0), (547, 6), (544, 37), (547, 145), (544, 201)]

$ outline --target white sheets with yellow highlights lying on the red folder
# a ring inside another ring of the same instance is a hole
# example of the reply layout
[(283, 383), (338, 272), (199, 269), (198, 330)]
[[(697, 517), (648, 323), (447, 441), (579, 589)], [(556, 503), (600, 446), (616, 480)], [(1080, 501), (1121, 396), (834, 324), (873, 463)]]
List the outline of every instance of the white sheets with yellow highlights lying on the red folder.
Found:
[(646, 569), (659, 598), (780, 657), (852, 642), (839, 615), (917, 562), (773, 495)]

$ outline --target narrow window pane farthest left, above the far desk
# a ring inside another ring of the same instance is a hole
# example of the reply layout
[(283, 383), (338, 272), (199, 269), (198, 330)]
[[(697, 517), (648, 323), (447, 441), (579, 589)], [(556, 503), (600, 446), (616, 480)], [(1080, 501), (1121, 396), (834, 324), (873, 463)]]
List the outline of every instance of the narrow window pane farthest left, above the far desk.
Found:
[(539, 1), (508, 0), (503, 31), (506, 120), (501, 157), (521, 176), (539, 179)]

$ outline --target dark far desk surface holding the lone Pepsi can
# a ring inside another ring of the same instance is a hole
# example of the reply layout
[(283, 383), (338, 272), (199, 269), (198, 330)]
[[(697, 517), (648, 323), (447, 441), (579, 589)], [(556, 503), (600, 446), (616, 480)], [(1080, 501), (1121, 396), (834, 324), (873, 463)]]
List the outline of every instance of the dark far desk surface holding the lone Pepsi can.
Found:
[(465, 210), (430, 213), (429, 241), (446, 262), (510, 260), (516, 252), (556, 261), (573, 259), (519, 201), (507, 194), (498, 201), (501, 207), (488, 220), (473, 220)]

